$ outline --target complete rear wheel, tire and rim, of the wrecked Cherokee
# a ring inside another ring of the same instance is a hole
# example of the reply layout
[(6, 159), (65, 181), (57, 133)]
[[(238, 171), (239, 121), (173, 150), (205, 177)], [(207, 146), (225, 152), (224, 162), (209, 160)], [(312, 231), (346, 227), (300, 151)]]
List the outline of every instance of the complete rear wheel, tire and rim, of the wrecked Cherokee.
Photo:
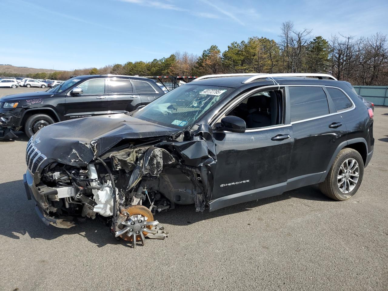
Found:
[(359, 189), (364, 175), (364, 161), (354, 149), (342, 149), (331, 166), (320, 191), (334, 200), (350, 199)]

